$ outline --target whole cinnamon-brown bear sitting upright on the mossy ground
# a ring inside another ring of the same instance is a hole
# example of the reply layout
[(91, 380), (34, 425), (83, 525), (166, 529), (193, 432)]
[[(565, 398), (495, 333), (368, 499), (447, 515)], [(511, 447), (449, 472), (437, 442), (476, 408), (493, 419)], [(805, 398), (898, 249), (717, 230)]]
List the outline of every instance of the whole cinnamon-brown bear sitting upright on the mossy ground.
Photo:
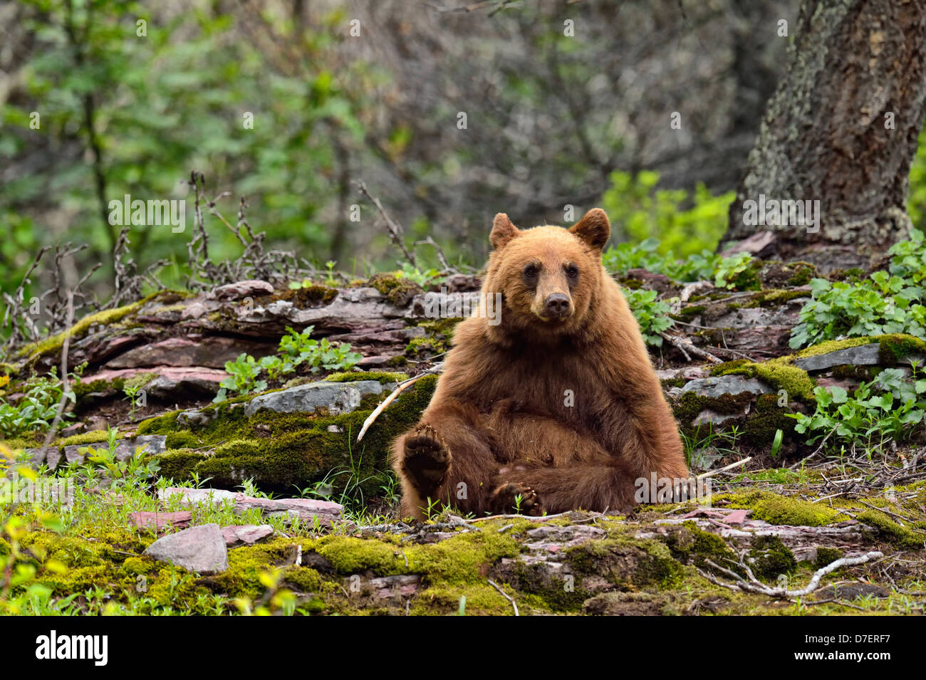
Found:
[(637, 480), (688, 476), (640, 328), (601, 264), (610, 230), (598, 208), (569, 229), (495, 216), (481, 308), (394, 442), (406, 516), (624, 511)]

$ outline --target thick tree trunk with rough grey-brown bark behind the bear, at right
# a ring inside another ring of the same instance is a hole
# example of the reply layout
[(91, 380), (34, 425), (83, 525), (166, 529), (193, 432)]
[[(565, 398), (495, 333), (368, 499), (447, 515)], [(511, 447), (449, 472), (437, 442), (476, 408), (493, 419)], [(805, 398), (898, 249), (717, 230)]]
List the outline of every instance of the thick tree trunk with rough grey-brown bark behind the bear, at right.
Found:
[[(722, 247), (757, 231), (824, 270), (866, 266), (910, 227), (907, 189), (926, 101), (926, 3), (804, 0)], [(819, 230), (745, 223), (744, 202), (819, 200)], [(768, 251), (766, 251), (768, 253)]]

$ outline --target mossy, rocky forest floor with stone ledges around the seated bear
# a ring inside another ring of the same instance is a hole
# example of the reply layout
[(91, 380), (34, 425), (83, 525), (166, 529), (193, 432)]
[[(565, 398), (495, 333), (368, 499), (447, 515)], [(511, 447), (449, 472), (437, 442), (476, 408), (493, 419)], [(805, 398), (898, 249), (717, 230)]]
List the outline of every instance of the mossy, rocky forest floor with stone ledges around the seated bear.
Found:
[[(923, 343), (878, 336), (789, 349), (808, 294), (799, 269), (764, 267), (756, 291), (676, 286), (642, 270), (622, 279), (677, 301), (678, 326), (653, 358), (708, 487), (629, 514), (433, 508), (428, 522), (402, 521), (389, 442), (430, 399), (429, 373), (458, 320), (429, 316), (427, 291), (405, 279), (297, 291), (243, 281), (80, 319), (5, 367), (12, 403), (61, 364), (66, 338), (69, 372), (82, 365), (69, 381), (73, 416), (49, 447), (41, 431), (5, 439), (7, 480), (20, 493), (53, 488), (64, 502), (0, 505), (0, 555), (13, 558), (0, 606), (921, 614), (923, 442), (885, 442), (875, 428), (835, 449), (807, 444), (788, 414), (813, 413), (814, 388), (851, 390), (879, 371), (909, 373), (911, 362), (915, 371)], [(466, 303), (478, 288), (457, 276), (446, 294)], [(313, 338), (350, 343), (363, 358), (353, 370), (282, 369), (263, 385), (252, 376), (250, 389), (213, 402), (222, 380), (246, 374), (241, 354), (285, 354), (287, 327), (296, 342), (312, 327)], [(227, 362), (237, 363), (231, 374)], [(357, 442), (396, 385), (419, 376)]]

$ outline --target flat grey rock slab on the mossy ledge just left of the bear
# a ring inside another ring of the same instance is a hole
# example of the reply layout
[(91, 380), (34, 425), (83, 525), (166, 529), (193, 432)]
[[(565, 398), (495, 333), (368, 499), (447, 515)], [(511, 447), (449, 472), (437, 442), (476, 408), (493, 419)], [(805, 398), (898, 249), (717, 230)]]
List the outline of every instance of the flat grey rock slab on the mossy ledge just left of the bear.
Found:
[(255, 397), (244, 407), (244, 414), (250, 417), (260, 409), (282, 414), (314, 413), (319, 409), (327, 409), (332, 415), (349, 414), (357, 410), (364, 396), (382, 394), (382, 389), (377, 380), (312, 382)]

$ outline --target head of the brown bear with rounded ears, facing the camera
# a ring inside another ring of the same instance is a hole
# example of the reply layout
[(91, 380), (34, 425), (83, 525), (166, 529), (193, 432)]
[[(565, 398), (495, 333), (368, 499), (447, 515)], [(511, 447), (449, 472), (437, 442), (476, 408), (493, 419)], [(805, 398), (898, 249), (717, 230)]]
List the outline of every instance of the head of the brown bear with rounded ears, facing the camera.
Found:
[(483, 291), (502, 295), (497, 331), (561, 336), (581, 330), (606, 276), (601, 251), (610, 233), (600, 208), (569, 229), (518, 229), (504, 213), (496, 215)]

